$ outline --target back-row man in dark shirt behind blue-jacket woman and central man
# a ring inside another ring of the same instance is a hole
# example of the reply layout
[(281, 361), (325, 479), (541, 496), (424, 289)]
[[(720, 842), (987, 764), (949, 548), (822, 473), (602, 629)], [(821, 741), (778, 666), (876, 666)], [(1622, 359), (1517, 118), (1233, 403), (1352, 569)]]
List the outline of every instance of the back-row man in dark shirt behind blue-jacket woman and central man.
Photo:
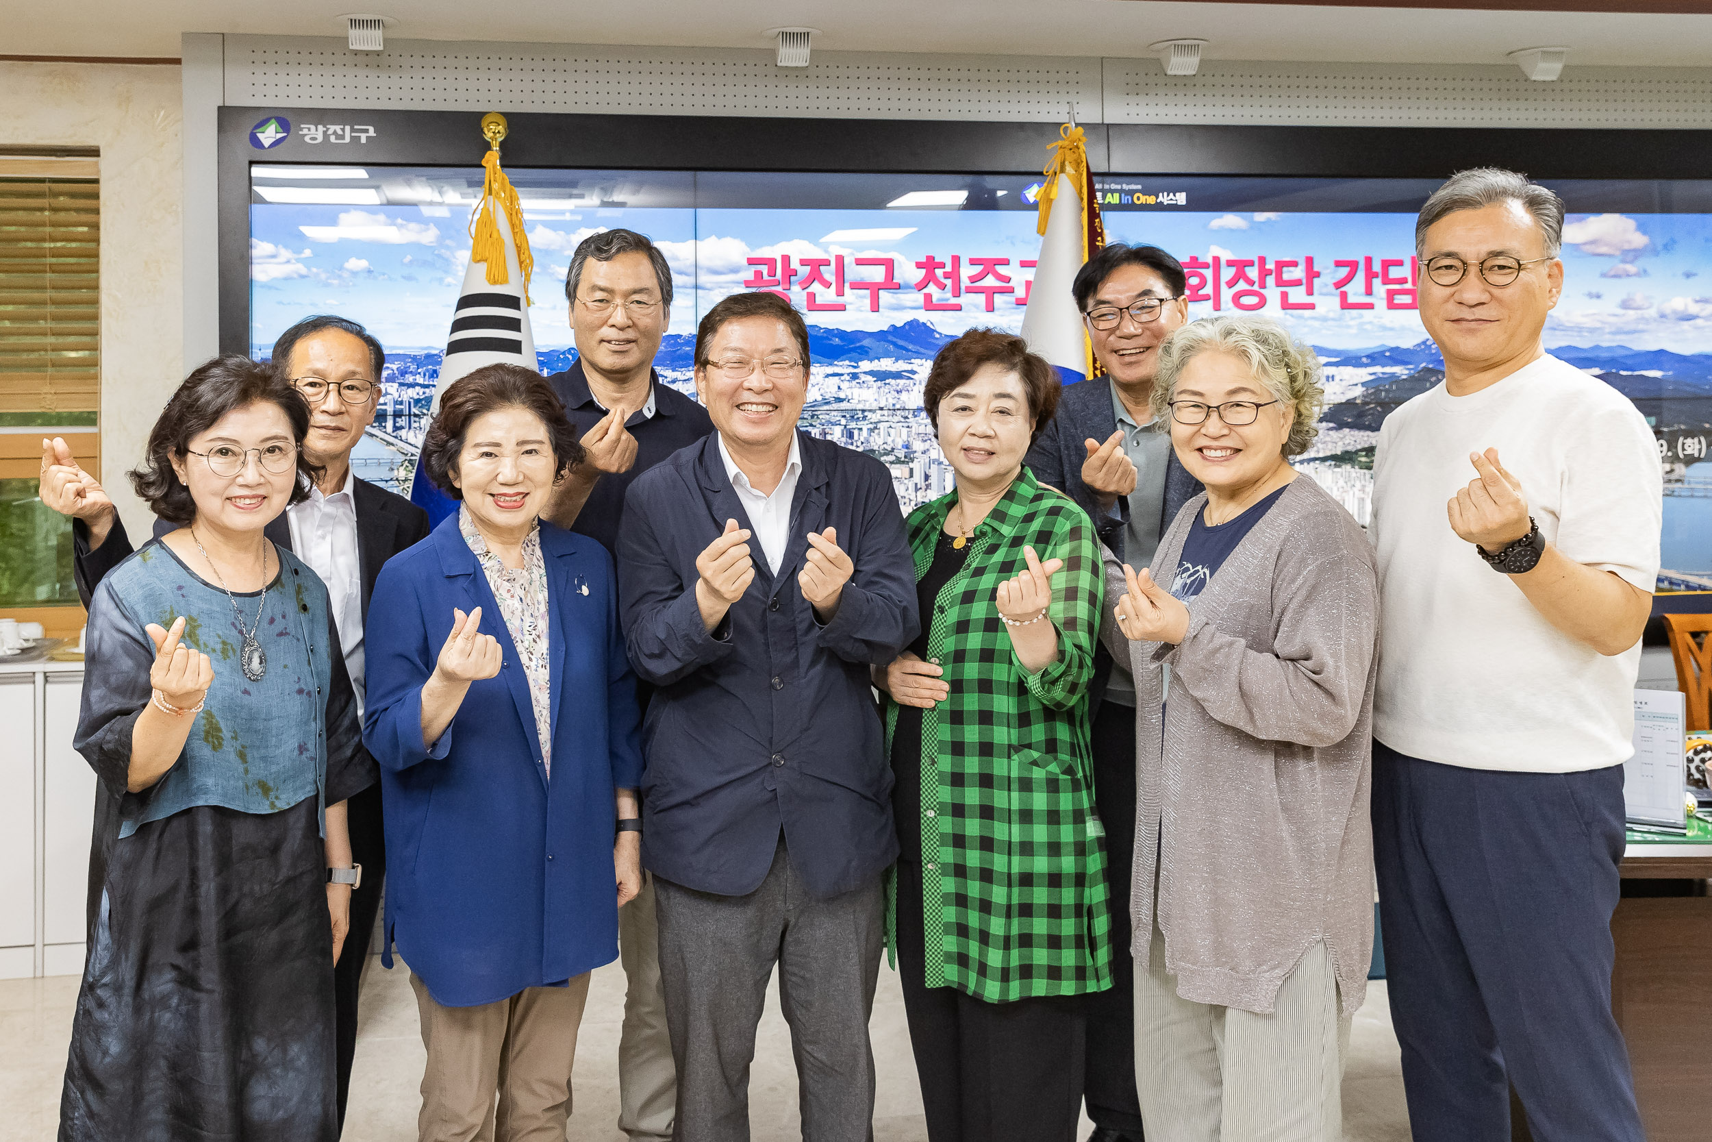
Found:
[[(577, 361), (548, 377), (582, 431), (587, 462), (565, 481), (548, 519), (618, 550), (630, 483), (714, 430), (707, 409), (659, 384), (654, 354), (671, 324), (671, 267), (633, 229), (589, 235), (565, 276)], [(647, 687), (642, 687), (647, 700)], [(618, 1128), (630, 1142), (673, 1137), (676, 1070), (659, 986), (654, 882), (618, 909), (625, 1024), (618, 1039)]]

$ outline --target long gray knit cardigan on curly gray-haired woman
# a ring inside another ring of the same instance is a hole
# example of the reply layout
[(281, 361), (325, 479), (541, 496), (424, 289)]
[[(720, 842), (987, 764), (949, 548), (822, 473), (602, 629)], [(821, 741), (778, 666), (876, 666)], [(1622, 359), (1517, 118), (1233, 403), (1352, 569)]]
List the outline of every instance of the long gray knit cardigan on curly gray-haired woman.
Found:
[[(1159, 544), (1169, 584), (1198, 495)], [(1106, 555), (1101, 639), (1135, 675), (1135, 957), (1147, 966), (1157, 854), (1159, 930), (1178, 995), (1270, 1012), (1325, 940), (1342, 1012), (1373, 954), (1371, 782), (1378, 584), (1356, 520), (1298, 476), (1190, 601), (1178, 645), (1128, 642), (1111, 611), (1123, 568)], [(1161, 664), (1171, 668), (1162, 700)], [(1162, 724), (1161, 724), (1162, 723)]]

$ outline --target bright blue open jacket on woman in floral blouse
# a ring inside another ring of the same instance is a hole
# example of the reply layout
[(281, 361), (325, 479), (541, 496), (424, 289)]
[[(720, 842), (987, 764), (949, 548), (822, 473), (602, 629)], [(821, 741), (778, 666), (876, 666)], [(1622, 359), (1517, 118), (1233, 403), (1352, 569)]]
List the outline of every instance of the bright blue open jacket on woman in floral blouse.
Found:
[[(613, 789), (642, 779), (635, 675), (606, 550), (543, 522), (541, 555), (551, 781), (522, 664), (455, 514), (387, 562), (370, 604), (363, 738), (380, 762), (385, 805), (387, 945), (397, 938), (447, 1007), (562, 983), (618, 955)], [(505, 664), (469, 687), (428, 748), (421, 687), (452, 608), (478, 606)]]

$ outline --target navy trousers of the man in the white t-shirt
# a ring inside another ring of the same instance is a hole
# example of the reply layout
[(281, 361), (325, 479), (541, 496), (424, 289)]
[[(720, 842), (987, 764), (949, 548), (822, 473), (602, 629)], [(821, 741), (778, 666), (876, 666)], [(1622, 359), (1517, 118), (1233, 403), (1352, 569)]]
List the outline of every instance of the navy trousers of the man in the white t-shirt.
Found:
[(1416, 1142), (1644, 1142), (1611, 1017), (1623, 767), (1512, 774), (1373, 743), (1373, 856)]

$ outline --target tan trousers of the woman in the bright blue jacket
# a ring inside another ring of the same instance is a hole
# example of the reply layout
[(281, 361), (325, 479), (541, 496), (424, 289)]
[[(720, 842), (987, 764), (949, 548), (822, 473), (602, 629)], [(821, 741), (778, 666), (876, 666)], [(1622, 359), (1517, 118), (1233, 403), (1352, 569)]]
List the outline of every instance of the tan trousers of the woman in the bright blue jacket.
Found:
[(442, 1007), (411, 972), (428, 1068), (421, 1142), (563, 1142), (589, 974), (481, 1007)]

